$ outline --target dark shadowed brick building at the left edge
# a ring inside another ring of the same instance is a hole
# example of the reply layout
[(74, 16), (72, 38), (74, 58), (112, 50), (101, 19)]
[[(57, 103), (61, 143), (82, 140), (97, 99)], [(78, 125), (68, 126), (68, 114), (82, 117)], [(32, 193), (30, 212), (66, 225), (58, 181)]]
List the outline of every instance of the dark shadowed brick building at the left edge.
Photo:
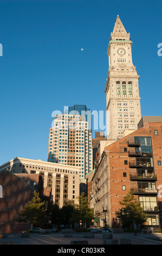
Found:
[(0, 233), (14, 233), (29, 229), (31, 225), (18, 223), (16, 218), (18, 212), (23, 210), (23, 206), (33, 198), (35, 188), (9, 170), (0, 172), (0, 184), (2, 186)]

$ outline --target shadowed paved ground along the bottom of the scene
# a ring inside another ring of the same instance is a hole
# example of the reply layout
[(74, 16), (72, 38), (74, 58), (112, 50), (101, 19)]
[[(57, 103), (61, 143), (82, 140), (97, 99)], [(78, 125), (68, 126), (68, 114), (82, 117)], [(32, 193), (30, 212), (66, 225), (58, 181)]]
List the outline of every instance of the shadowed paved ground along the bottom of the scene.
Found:
[[(113, 240), (118, 240), (120, 245), (121, 238), (131, 239), (131, 245), (162, 245), (162, 234), (138, 234), (132, 233), (113, 234)], [(88, 241), (89, 245), (103, 245), (102, 234), (95, 234), (94, 238), (84, 238), (80, 233), (74, 233), (73, 237), (64, 237), (61, 233), (55, 234), (30, 234), (30, 237), (20, 235), (8, 235), (8, 238), (0, 239), (0, 243), (13, 243), (14, 245), (70, 245), (71, 241)], [(161, 241), (158, 241), (161, 240)], [(71, 245), (72, 246), (72, 245)]]

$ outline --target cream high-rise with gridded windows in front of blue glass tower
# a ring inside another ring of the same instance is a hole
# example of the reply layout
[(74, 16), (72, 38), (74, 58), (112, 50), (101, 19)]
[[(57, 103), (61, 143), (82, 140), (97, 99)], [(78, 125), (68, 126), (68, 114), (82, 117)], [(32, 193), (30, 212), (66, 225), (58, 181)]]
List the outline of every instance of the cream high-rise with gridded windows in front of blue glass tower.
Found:
[(93, 169), (92, 131), (83, 119), (81, 115), (56, 115), (48, 141), (48, 161), (80, 167), (80, 179)]

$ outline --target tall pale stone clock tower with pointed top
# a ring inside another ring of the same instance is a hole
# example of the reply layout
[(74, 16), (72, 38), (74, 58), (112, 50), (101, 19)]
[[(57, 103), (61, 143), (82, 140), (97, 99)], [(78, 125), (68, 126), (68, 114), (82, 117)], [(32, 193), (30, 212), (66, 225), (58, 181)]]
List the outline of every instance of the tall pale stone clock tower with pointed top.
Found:
[(107, 139), (117, 140), (123, 137), (124, 131), (137, 130), (141, 119), (139, 75), (132, 62), (132, 40), (129, 37), (118, 15), (107, 50)]

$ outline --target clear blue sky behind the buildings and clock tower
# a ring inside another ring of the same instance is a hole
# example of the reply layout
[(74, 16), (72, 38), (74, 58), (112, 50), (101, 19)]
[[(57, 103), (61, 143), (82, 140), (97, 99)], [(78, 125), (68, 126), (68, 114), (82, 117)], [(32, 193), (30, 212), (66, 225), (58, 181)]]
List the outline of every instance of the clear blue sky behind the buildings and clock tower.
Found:
[(0, 165), (16, 156), (47, 161), (53, 111), (105, 111), (117, 15), (133, 40), (141, 114), (161, 115), (161, 0), (0, 0)]

